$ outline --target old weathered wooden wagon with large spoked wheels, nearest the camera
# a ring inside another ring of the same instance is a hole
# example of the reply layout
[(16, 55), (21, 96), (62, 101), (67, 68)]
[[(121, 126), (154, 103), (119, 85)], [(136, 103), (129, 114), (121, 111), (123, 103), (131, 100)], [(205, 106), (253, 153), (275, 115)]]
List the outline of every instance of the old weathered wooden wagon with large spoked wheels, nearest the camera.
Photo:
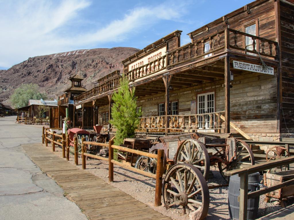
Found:
[[(189, 133), (159, 140), (149, 152), (164, 150), (164, 168), (167, 170), (162, 188), (164, 205), (167, 209), (183, 207), (185, 213), (192, 211), (197, 219), (203, 219), (209, 207), (206, 180), (210, 166), (218, 165), (225, 178), (224, 171), (254, 165), (250, 147), (230, 134)], [(153, 158), (141, 156), (136, 165), (136, 168), (156, 172), (156, 160)]]

